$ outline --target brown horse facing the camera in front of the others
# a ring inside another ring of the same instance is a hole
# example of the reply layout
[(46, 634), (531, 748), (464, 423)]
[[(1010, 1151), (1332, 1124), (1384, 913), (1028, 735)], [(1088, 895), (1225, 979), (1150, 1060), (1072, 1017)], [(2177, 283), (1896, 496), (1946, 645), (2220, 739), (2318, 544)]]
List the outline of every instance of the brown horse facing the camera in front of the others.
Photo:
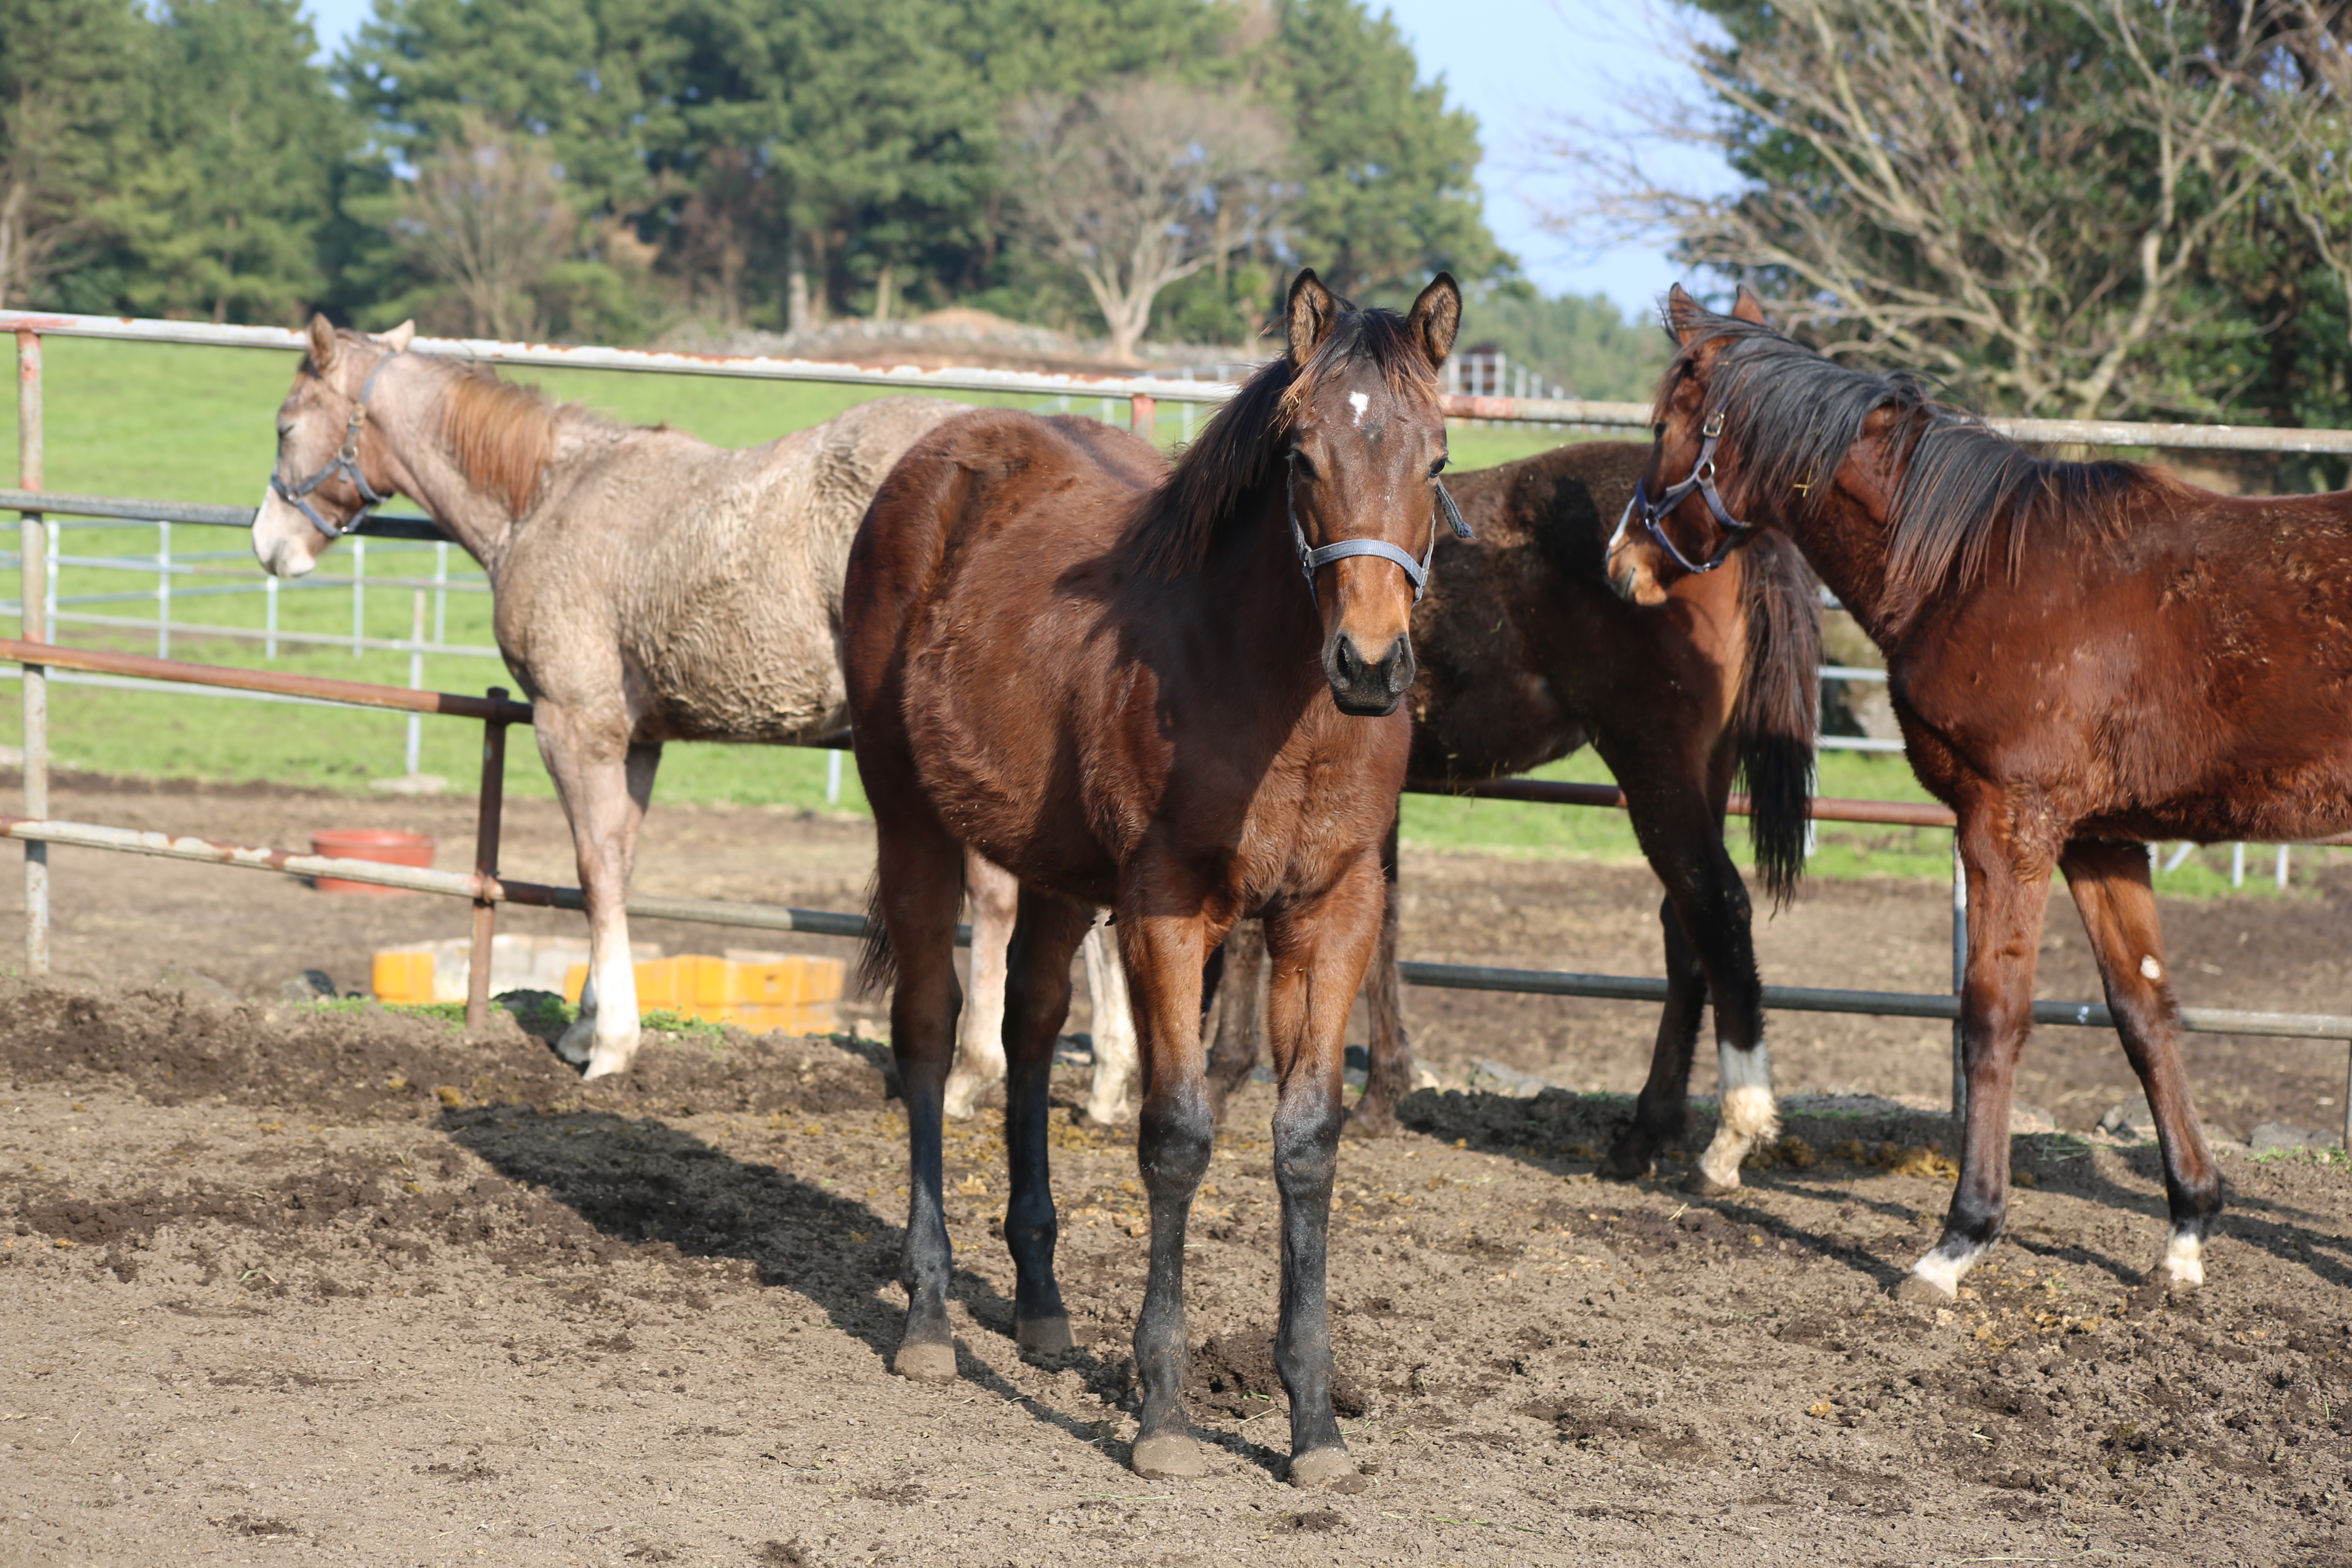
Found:
[(1136, 1154), (1152, 1211), (1134, 1467), (1200, 1474), (1181, 1387), (1185, 1218), (1214, 1138), (1202, 961), (1261, 914), (1282, 1074), (1275, 1366), (1305, 1486), (1355, 1469), (1331, 1413), (1324, 1300), (1341, 1048), (1411, 748), (1411, 588), (1437, 543), (1437, 369), (1461, 294), (1439, 275), (1397, 317), (1301, 273), (1287, 320), (1289, 353), (1174, 470), (1082, 418), (981, 411), (917, 442), (851, 550), (842, 663), (877, 830), (868, 973), (896, 973), (913, 1166), (894, 1368), (955, 1375), (941, 1095), (971, 846), (1021, 879), (1004, 997), (1018, 1342), (1070, 1345), (1044, 1095), (1070, 954), (1110, 905), (1143, 1046)]

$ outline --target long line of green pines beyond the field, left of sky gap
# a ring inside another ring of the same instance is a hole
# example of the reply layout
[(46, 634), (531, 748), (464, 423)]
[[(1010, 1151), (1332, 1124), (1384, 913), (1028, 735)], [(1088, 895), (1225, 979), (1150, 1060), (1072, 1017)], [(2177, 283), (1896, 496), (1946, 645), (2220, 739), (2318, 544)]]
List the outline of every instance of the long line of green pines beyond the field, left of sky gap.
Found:
[[(637, 341), (946, 303), (1240, 341), (1512, 277), (1364, 0), (0, 0), (0, 303)], [(1524, 289), (1522, 289), (1524, 294)]]

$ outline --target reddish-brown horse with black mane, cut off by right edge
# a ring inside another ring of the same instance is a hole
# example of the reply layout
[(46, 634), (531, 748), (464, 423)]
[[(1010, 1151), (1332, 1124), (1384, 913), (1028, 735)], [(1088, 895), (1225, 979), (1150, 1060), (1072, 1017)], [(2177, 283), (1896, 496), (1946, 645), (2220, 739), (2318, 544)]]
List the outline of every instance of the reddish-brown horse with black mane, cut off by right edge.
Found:
[[(1726, 317), (1675, 289), (1668, 310), (1682, 348), (1613, 578), (1651, 599), (1764, 529), (1797, 541), (1886, 651), (1912, 769), (1959, 816), (1962, 1173), (1898, 1293), (1950, 1300), (2002, 1232), (2053, 867), (2154, 1112), (2164, 1276), (2201, 1284), (2223, 1187), (2145, 844), (2352, 827), (2352, 494), (2232, 498), (2037, 458), (1907, 376), (1788, 341), (1752, 296)], [(1661, 489), (1668, 475), (1686, 477)]]

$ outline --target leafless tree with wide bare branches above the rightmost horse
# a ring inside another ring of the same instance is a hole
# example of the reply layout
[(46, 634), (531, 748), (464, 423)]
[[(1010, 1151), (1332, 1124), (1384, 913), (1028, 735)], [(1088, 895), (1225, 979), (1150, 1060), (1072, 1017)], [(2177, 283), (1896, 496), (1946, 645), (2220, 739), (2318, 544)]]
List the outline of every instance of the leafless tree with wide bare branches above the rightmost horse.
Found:
[[(1637, 136), (1564, 125), (1562, 233), (1665, 233), (1830, 353), (1870, 348), (2023, 414), (2218, 409), (2178, 341), (2199, 268), (2265, 190), (2253, 45), (2157, 0), (1776, 0), (1691, 42)], [(1693, 38), (1700, 31), (1684, 31)], [(1722, 155), (1708, 195), (1656, 148)], [(2338, 141), (2343, 148), (2343, 141)]]

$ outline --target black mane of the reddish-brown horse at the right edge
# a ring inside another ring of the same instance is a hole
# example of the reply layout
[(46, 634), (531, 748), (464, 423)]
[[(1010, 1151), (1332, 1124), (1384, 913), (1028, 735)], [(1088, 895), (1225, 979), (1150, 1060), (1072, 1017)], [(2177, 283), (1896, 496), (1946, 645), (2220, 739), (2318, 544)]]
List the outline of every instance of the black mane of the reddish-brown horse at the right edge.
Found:
[(1698, 306), (1682, 308), (1672, 327), (1689, 336), (1658, 381), (1651, 418), (1665, 416), (1698, 350), (1722, 343), (1710, 374), (1712, 407), (1722, 409), (1757, 494), (1795, 491), (1804, 515), (1823, 505), (1825, 480), (1860, 440), (1863, 421), (1893, 411), (1886, 444), (1898, 480), (1886, 515), (1886, 588), (1896, 597), (1919, 599), (1955, 578), (1971, 583), (2002, 529), (2016, 576), (2030, 527), (2089, 522), (2114, 531), (2112, 503), (2147, 484), (2140, 463), (2034, 456), (1976, 414), (1938, 402), (1907, 371), (1853, 369), (1771, 327)]

